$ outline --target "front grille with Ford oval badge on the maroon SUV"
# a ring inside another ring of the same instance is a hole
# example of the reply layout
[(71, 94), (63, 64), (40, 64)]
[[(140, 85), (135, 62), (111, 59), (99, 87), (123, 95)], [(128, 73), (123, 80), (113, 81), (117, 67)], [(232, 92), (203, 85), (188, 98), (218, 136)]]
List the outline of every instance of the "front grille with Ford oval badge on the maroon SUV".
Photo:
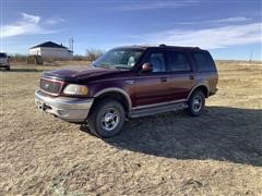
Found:
[(47, 78), (40, 78), (40, 89), (52, 95), (59, 95), (62, 88), (63, 82), (53, 81)]

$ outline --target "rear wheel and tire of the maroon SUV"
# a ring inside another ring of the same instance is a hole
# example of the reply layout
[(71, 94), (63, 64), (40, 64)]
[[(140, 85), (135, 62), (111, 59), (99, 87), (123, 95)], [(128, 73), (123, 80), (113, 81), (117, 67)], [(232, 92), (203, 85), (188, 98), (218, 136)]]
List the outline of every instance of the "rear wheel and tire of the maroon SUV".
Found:
[(196, 90), (194, 91), (188, 101), (188, 108), (186, 112), (191, 117), (199, 117), (203, 113), (205, 108), (205, 96), (203, 91)]

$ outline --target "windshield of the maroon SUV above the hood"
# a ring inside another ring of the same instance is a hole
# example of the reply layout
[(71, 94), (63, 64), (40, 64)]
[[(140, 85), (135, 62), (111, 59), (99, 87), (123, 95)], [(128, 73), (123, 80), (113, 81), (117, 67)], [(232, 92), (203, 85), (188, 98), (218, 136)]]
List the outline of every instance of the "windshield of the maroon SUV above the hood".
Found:
[(95, 66), (112, 69), (132, 69), (143, 53), (143, 49), (112, 49), (97, 59), (93, 64)]

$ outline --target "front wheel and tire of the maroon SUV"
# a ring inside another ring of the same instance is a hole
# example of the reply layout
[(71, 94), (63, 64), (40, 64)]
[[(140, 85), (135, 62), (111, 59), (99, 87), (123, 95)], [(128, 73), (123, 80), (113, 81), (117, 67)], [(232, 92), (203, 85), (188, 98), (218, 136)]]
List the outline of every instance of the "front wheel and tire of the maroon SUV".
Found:
[(92, 134), (98, 137), (111, 137), (118, 134), (124, 123), (124, 109), (114, 99), (103, 99), (95, 103), (87, 118)]

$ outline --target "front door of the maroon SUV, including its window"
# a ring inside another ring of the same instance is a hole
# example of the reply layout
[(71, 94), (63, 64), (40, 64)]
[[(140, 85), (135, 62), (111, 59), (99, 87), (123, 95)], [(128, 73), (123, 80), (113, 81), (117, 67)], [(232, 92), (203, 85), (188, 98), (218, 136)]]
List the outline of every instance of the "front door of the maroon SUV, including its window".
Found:
[(166, 102), (170, 99), (165, 49), (150, 49), (143, 63), (151, 63), (153, 72), (140, 73), (135, 78), (135, 106)]

